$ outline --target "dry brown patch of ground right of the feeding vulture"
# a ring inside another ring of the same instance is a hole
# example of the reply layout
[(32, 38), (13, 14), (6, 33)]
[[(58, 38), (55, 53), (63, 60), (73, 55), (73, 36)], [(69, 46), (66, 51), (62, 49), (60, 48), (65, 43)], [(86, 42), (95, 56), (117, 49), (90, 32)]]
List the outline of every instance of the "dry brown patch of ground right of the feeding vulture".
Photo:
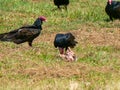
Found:
[(120, 29), (119, 28), (99, 28), (94, 27), (75, 30), (78, 42), (81, 45), (91, 44), (95, 46), (115, 46), (120, 47)]

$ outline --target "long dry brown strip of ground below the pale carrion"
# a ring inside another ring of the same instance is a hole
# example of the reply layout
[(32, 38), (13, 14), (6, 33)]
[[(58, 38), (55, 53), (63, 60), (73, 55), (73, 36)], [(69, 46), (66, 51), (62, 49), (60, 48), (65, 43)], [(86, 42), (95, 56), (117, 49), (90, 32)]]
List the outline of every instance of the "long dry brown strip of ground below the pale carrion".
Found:
[(77, 76), (79, 79), (85, 79), (91, 71), (102, 73), (115, 72), (111, 67), (107, 66), (93, 67), (83, 63), (66, 63), (64, 65), (55, 64), (52, 66), (39, 66), (37, 68), (21, 69), (18, 73), (29, 75), (30, 78), (37, 81), (45, 78), (71, 78), (71, 76)]

